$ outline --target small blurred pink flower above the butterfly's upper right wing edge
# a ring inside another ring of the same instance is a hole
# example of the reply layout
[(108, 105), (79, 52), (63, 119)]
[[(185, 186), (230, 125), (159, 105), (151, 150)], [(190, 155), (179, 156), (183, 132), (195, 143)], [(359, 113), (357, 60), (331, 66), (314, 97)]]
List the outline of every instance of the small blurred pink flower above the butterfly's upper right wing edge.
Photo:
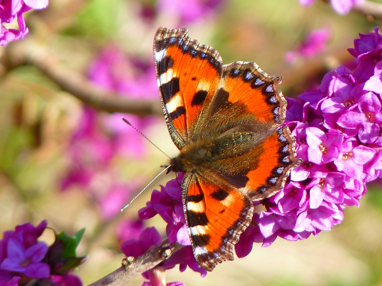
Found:
[(312, 58), (325, 50), (330, 38), (327, 28), (309, 32), (306, 38), (299, 43), (294, 51), (288, 51), (285, 55), (287, 63), (294, 63), (298, 58)]

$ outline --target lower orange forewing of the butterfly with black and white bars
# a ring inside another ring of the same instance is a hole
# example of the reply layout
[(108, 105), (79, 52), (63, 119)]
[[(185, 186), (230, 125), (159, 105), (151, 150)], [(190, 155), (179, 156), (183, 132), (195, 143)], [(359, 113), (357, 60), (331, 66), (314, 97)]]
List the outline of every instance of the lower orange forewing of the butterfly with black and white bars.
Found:
[(187, 229), (196, 261), (211, 271), (233, 260), (233, 245), (252, 219), (251, 200), (235, 188), (186, 173), (182, 182)]

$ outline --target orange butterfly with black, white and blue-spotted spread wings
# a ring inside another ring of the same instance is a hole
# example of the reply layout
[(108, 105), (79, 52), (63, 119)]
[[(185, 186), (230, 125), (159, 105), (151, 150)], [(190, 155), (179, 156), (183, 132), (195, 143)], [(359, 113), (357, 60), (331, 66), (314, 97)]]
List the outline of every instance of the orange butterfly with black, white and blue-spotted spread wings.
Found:
[(286, 126), (286, 100), (256, 63), (222, 63), (219, 53), (160, 27), (154, 61), (163, 112), (180, 150), (170, 159), (181, 182), (188, 235), (207, 271), (233, 260), (233, 246), (251, 223), (253, 202), (277, 193), (298, 166)]

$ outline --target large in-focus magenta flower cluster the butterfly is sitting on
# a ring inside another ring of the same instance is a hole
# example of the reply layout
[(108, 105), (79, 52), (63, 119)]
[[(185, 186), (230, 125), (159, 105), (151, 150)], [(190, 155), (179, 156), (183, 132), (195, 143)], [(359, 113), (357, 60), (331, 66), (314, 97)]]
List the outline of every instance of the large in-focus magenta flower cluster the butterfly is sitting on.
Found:
[[(365, 183), (382, 177), (382, 35), (360, 34), (349, 49), (356, 58), (352, 72), (344, 66), (328, 72), (319, 89), (288, 98), (286, 123), (296, 138), (297, 157), (285, 187), (262, 201), (266, 210), (255, 212), (253, 223), (235, 245), (238, 257), (251, 252), (254, 242), (269, 246), (278, 237), (296, 241), (328, 231), (344, 217), (346, 206), (359, 206)], [(154, 190), (141, 219), (159, 214), (167, 223), (171, 243), (183, 244), (166, 263), (188, 265), (205, 275), (192, 254), (183, 206), (183, 174)], [(254, 202), (255, 205), (259, 202)], [(256, 209), (256, 207), (255, 207)], [(186, 255), (187, 254), (187, 255)]]

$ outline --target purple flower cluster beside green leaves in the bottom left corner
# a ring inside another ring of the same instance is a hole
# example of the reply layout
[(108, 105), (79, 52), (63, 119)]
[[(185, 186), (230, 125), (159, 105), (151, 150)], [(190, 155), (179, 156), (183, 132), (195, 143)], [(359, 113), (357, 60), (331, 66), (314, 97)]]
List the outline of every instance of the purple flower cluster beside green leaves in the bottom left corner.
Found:
[[(32, 279), (55, 286), (82, 285), (77, 276), (68, 272), (52, 273), (49, 263), (53, 261), (47, 259), (49, 246), (37, 240), (46, 227), (44, 220), (37, 227), (24, 223), (4, 232), (0, 240), (0, 285), (25, 285)], [(59, 255), (56, 253), (55, 257), (58, 259)]]

